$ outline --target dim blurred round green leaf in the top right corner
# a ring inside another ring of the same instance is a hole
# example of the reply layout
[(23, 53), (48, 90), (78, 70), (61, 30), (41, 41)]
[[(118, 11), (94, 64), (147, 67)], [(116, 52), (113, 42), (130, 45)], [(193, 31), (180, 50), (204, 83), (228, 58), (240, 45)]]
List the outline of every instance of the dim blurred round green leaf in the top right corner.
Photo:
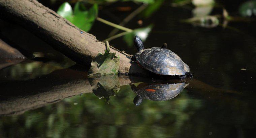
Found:
[(239, 13), (242, 16), (256, 15), (256, 0), (247, 1), (239, 7)]

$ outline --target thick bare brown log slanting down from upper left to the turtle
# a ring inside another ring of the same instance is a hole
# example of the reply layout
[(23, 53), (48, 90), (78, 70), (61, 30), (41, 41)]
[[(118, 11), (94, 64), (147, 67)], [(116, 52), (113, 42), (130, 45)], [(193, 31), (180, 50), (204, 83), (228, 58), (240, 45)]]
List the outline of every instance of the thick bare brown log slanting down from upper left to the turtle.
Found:
[[(91, 65), (92, 59), (105, 50), (105, 43), (77, 28), (36, 0), (0, 0), (0, 18), (16, 22), (57, 51), (85, 66)], [(137, 64), (129, 63), (129, 54), (113, 47), (110, 52), (116, 52), (120, 56), (119, 74), (149, 74), (149, 71)]]

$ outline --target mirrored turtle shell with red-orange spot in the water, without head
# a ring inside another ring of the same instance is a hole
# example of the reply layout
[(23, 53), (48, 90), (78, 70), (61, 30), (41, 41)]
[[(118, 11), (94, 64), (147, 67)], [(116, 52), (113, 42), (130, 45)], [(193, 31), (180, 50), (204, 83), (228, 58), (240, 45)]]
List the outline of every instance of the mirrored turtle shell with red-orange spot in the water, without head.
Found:
[(176, 97), (188, 85), (189, 84), (186, 83), (152, 84), (138, 88), (135, 93), (145, 99), (153, 101), (165, 101)]

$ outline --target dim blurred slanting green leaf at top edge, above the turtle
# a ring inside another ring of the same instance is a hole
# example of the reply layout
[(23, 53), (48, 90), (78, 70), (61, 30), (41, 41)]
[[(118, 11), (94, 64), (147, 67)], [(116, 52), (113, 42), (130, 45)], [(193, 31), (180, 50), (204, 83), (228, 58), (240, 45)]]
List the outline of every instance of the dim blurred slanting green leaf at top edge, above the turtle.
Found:
[(162, 3), (164, 2), (164, 0), (156, 0), (156, 2), (150, 4), (145, 10), (142, 11), (142, 15), (145, 18), (148, 18), (152, 15), (152, 13), (154, 13), (156, 10), (158, 10)]

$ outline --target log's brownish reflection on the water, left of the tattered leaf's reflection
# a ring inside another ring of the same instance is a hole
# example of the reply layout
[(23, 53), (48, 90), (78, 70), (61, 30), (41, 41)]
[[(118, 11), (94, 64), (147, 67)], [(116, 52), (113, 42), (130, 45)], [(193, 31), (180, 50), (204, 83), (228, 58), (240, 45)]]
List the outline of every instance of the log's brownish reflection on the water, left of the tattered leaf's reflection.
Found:
[(1, 83), (0, 116), (20, 114), (70, 96), (92, 92), (89, 81), (84, 78), (83, 72), (65, 69), (38, 79)]

